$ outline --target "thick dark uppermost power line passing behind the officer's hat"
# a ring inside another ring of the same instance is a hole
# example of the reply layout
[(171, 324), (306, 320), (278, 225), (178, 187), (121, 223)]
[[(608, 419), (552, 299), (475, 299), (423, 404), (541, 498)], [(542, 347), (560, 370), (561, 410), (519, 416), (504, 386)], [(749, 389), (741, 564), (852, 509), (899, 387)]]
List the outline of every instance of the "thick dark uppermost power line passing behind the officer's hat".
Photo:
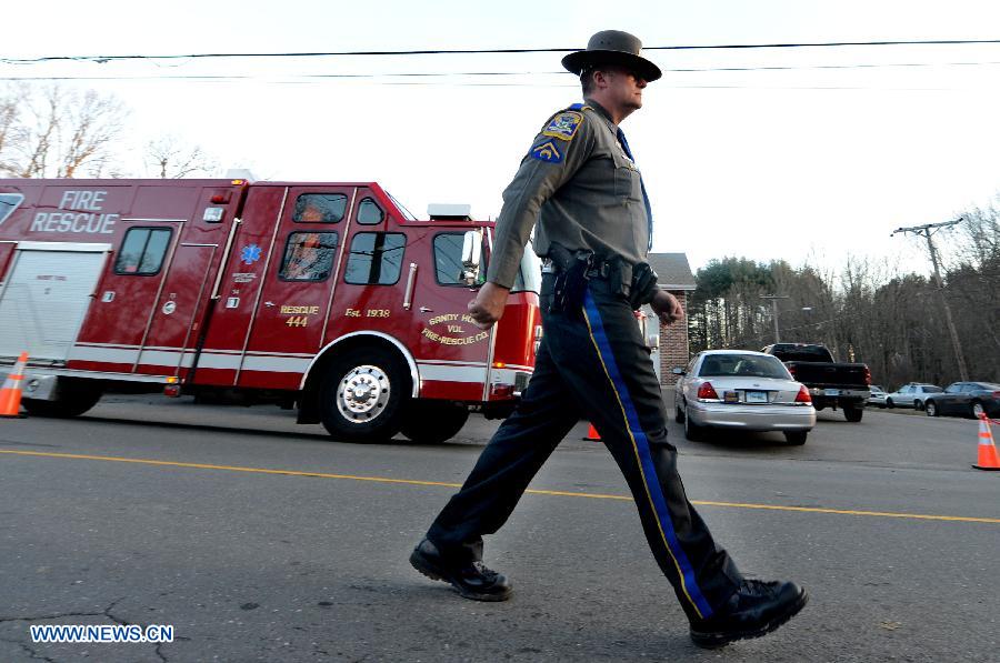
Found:
[[(927, 39), (927, 40), (882, 40), (882, 41), (828, 41), (801, 43), (727, 43), (727, 44), (687, 44), (654, 46), (646, 51), (690, 51), (690, 50), (744, 50), (744, 49), (800, 49), (800, 48), (843, 48), (843, 47), (894, 47), (894, 46), (964, 46), (998, 44), (1000, 39)], [(419, 49), (406, 51), (307, 51), (279, 53), (186, 53), (166, 56), (43, 56), (40, 58), (0, 58), (8, 64), (36, 64), (54, 61), (89, 61), (106, 63), (120, 60), (182, 60), (206, 58), (337, 58), (337, 57), (383, 57), (383, 56), (481, 56), (512, 53), (564, 53), (579, 50), (577, 48), (546, 49)]]

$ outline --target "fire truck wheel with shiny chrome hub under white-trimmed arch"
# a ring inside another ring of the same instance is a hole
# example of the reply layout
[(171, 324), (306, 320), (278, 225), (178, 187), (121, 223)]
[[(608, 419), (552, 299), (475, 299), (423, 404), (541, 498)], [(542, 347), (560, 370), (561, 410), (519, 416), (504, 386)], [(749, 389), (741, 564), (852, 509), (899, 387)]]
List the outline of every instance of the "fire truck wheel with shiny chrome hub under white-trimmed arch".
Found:
[(399, 432), (409, 401), (402, 361), (379, 348), (336, 359), (320, 390), (320, 416), (338, 440), (380, 442)]

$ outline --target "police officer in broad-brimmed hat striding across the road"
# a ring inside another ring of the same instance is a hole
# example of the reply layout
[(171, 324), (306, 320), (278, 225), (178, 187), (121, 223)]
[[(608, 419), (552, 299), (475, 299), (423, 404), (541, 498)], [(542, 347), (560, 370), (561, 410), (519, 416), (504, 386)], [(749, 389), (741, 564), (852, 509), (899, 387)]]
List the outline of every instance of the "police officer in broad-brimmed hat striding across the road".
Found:
[(529, 482), (580, 419), (589, 419), (624, 475), (649, 546), (700, 646), (773, 631), (804, 605), (791, 582), (747, 580), (688, 501), (667, 441), (667, 413), (633, 311), (683, 315), (646, 262), (652, 218), (619, 124), (660, 78), (639, 39), (594, 34), (562, 60), (584, 103), (552, 115), (503, 192), (487, 283), (469, 313), (489, 329), (503, 313), (531, 229), (543, 258), (544, 333), (534, 374), (461, 490), (410, 556), (464, 597), (504, 601), (511, 583), (482, 562), (482, 535), (507, 521)]

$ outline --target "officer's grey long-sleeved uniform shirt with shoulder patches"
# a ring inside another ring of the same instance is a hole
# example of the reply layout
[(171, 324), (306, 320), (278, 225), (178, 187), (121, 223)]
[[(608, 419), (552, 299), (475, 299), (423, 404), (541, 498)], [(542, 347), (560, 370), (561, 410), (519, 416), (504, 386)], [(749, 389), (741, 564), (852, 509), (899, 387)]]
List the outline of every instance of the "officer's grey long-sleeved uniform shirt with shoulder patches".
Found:
[(544, 258), (552, 242), (598, 258), (620, 258), (624, 284), (644, 262), (649, 228), (639, 170), (608, 112), (588, 100), (552, 115), (503, 191), (487, 280), (510, 288), (531, 229)]

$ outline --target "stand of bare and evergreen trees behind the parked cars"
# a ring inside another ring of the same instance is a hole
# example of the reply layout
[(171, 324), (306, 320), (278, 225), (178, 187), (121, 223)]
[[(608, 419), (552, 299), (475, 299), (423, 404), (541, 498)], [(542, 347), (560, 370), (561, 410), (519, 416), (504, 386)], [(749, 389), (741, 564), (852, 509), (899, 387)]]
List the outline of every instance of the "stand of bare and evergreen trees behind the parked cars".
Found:
[[(1000, 381), (1000, 212), (973, 210), (942, 242), (954, 323), (970, 373)], [(948, 264), (948, 263), (946, 263)], [(826, 272), (783, 261), (712, 260), (697, 274), (689, 308), (692, 350), (756, 349), (771, 342), (773, 313), (760, 294), (779, 293), (781, 339), (822, 342), (841, 361), (869, 364), (877, 383), (948, 384), (960, 379), (936, 282), (848, 255)]]

